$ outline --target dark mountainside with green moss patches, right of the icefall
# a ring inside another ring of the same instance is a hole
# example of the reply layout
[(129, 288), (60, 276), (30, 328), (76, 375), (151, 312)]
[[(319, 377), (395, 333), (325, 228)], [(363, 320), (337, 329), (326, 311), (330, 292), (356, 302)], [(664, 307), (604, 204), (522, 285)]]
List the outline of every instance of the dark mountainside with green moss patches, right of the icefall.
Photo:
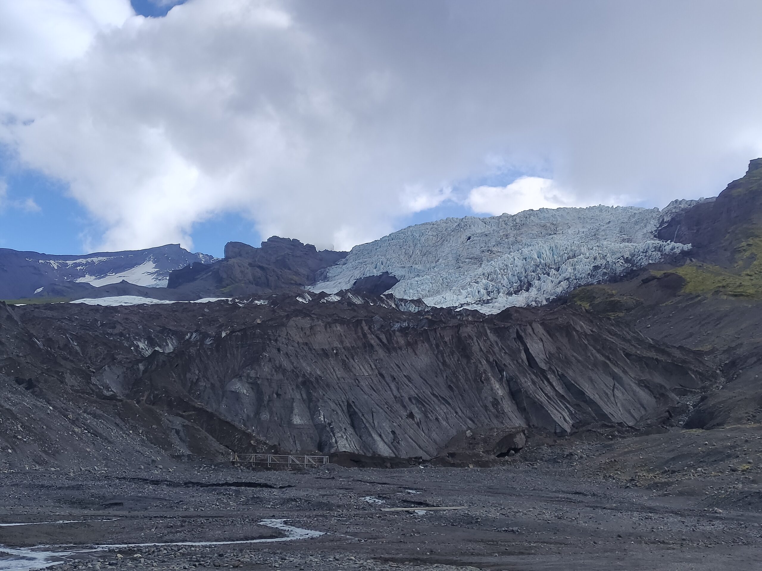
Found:
[(660, 236), (693, 248), (630, 279), (578, 289), (571, 301), (717, 363), (725, 381), (697, 404), (688, 426), (762, 422), (762, 159), (713, 202), (674, 216)]

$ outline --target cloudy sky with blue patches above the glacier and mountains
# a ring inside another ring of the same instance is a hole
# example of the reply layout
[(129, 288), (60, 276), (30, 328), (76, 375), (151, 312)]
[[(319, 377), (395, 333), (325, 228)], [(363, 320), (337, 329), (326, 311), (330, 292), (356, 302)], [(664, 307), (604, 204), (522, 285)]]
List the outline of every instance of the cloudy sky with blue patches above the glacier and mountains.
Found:
[(716, 196), (762, 155), (758, 0), (0, 0), (0, 247)]

